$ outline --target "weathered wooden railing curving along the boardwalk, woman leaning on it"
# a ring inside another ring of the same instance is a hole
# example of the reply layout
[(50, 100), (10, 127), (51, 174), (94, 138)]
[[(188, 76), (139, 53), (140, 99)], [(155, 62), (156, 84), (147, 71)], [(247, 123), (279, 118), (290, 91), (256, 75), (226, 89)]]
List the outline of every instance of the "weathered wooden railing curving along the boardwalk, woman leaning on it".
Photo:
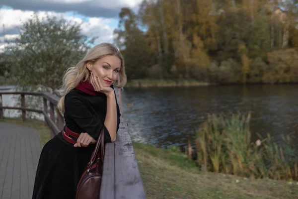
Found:
[[(3, 95), (21, 95), (21, 107), (3, 106)], [(26, 108), (26, 95), (43, 98), (43, 110)], [(64, 127), (63, 116), (56, 108), (58, 101), (59, 97), (50, 93), (0, 92), (0, 119), (4, 118), (3, 109), (21, 110), (23, 121), (26, 111), (41, 113), (53, 137)], [(116, 141), (105, 145), (100, 189), (100, 199), (146, 199), (127, 123), (121, 122)]]

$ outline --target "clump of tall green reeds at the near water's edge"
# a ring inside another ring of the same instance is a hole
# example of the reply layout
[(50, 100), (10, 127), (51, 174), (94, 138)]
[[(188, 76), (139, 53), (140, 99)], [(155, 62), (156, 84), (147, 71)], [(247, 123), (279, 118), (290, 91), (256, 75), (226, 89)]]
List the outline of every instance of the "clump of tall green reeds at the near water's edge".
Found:
[(250, 113), (209, 115), (197, 131), (197, 161), (202, 170), (250, 178), (298, 180), (298, 156), (288, 136), (286, 145), (267, 138), (251, 142)]

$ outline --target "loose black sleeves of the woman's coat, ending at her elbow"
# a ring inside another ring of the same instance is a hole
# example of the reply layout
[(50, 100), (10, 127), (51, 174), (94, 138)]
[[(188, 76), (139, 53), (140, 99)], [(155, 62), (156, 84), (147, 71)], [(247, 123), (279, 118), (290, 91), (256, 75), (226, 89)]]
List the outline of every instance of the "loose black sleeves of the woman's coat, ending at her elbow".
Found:
[[(117, 101), (117, 100), (116, 100)], [(65, 112), (82, 129), (94, 139), (98, 139), (100, 130), (104, 129), (105, 142), (111, 142), (111, 136), (108, 129), (104, 126), (104, 121), (101, 121), (96, 115), (92, 114), (81, 99), (71, 96), (65, 99)], [(117, 104), (117, 131), (120, 124), (120, 112)]]

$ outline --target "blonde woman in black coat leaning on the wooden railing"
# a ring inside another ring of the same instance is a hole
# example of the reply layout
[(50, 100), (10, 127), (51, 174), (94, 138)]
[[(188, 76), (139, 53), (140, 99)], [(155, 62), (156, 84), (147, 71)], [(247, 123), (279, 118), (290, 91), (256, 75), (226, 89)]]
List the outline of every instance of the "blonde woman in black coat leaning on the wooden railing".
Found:
[[(58, 109), (65, 127), (48, 141), (40, 155), (32, 199), (75, 199), (76, 187), (87, 165), (100, 130), (105, 142), (113, 142), (120, 123), (120, 111), (113, 83), (120, 76), (118, 88), (127, 79), (124, 60), (109, 43), (91, 48), (75, 67), (67, 70)], [(66, 129), (79, 133), (70, 143)]]

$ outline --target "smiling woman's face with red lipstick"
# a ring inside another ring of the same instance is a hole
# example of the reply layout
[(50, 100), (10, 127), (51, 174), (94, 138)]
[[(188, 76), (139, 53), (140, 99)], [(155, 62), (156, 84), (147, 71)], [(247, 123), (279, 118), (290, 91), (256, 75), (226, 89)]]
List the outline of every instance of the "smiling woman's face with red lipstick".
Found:
[(121, 60), (113, 55), (105, 56), (95, 63), (87, 63), (87, 68), (103, 87), (110, 87), (118, 79), (120, 67)]

